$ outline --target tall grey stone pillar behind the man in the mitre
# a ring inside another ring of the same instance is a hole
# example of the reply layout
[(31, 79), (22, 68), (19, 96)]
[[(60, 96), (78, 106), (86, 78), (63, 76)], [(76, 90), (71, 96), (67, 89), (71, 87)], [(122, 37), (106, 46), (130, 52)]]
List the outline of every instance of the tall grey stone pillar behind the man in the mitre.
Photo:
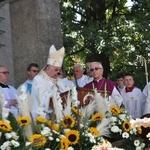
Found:
[(42, 68), (46, 64), (49, 47), (52, 44), (57, 49), (63, 46), (59, 1), (13, 0), (3, 7), (6, 6), (10, 20), (5, 29), (10, 30), (6, 40), (10, 41), (8, 47), (0, 48), (0, 52), (3, 51), (0, 64), (12, 69), (10, 83), (18, 87), (26, 80), (29, 63), (36, 62)]

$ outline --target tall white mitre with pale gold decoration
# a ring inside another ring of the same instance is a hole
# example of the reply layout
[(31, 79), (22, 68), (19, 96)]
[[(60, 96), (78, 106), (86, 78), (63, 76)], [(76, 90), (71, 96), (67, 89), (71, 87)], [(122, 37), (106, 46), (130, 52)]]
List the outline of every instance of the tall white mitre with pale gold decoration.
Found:
[(49, 49), (49, 56), (47, 59), (47, 64), (52, 66), (61, 67), (64, 59), (65, 48), (62, 47), (58, 51), (55, 46), (52, 45)]

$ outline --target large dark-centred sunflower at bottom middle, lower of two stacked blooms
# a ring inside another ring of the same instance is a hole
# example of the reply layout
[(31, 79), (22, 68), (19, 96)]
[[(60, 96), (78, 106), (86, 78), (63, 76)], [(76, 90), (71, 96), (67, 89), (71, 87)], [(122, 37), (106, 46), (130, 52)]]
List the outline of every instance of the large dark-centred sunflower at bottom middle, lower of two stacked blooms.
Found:
[(79, 132), (77, 130), (70, 130), (68, 131), (65, 136), (68, 140), (69, 145), (75, 145), (78, 143), (79, 140)]

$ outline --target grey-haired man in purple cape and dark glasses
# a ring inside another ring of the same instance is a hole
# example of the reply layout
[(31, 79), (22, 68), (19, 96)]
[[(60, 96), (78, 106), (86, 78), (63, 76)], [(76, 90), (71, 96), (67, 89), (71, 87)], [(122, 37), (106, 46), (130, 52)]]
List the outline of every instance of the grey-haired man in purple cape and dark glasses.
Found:
[(90, 71), (93, 76), (93, 81), (86, 84), (84, 88), (97, 89), (101, 92), (107, 92), (109, 102), (120, 107), (122, 105), (122, 97), (116, 88), (115, 82), (105, 79), (103, 77), (103, 66), (100, 62), (92, 62), (90, 64)]

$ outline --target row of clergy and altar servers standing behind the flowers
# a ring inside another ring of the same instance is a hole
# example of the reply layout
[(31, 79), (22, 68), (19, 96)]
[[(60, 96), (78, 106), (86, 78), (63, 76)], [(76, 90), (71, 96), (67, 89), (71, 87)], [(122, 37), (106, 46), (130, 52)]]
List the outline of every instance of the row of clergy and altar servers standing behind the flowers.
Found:
[(105, 79), (100, 62), (87, 62), (86, 74), (81, 64), (75, 64), (72, 67), (74, 79), (69, 80), (63, 75), (62, 70), (64, 53), (64, 47), (56, 50), (52, 45), (49, 49), (47, 64), (41, 71), (38, 64), (29, 64), (28, 79), (18, 89), (7, 85), (9, 71), (7, 67), (0, 66), (0, 92), (6, 100), (5, 107), (10, 108), (10, 112), (15, 117), (19, 113), (17, 96), (21, 93), (22, 86), (26, 87), (26, 92), (31, 96), (33, 118), (37, 115), (38, 107), (43, 107), (47, 113), (53, 111), (49, 103), (54, 91), (64, 93), (73, 87), (97, 89), (101, 94), (106, 94), (110, 104), (124, 107), (133, 118), (140, 118), (150, 113), (150, 83), (141, 91), (134, 86), (134, 77), (130, 73), (119, 73), (116, 76), (116, 82)]

